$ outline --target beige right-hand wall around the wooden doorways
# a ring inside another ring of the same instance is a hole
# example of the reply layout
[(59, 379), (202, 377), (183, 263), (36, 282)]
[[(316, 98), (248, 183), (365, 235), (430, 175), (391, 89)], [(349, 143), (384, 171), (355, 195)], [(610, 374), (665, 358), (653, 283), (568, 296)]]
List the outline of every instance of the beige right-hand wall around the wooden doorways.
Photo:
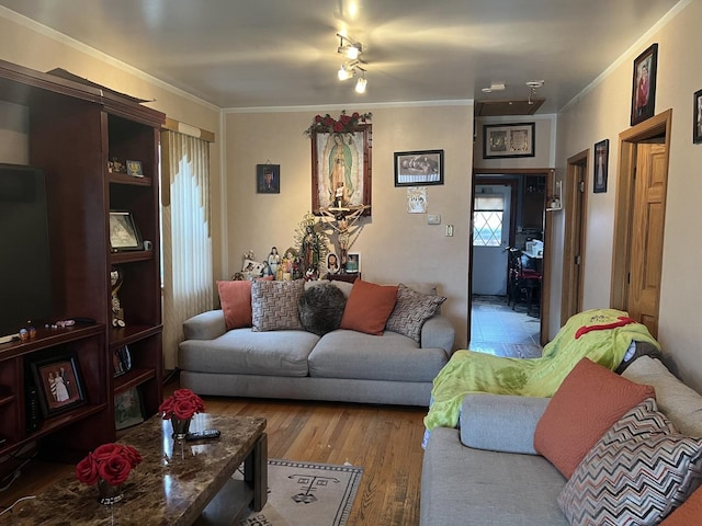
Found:
[(697, 66), (699, 52), (692, 43), (699, 38), (702, 2), (681, 5), (681, 12), (637, 43), (621, 64), (603, 76), (601, 83), (559, 115), (557, 167), (559, 174), (565, 173), (566, 159), (586, 149), (590, 150), (592, 167), (593, 145), (610, 139), (608, 191), (592, 194), (591, 181), (588, 187), (584, 287), (586, 309), (608, 306), (619, 134), (630, 127), (633, 61), (657, 42), (656, 113), (672, 108), (658, 339), (682, 377), (702, 389), (702, 145), (692, 144), (692, 95), (702, 89), (702, 68)]

